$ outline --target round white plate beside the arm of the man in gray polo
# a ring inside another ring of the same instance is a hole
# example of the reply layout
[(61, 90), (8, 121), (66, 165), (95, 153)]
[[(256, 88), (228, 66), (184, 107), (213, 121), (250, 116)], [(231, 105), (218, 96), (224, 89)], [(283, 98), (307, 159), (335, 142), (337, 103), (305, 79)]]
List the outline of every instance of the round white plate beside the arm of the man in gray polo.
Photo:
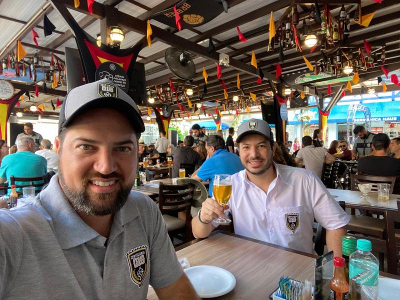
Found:
[(213, 265), (196, 265), (184, 270), (201, 298), (212, 298), (231, 291), (236, 279), (231, 272)]

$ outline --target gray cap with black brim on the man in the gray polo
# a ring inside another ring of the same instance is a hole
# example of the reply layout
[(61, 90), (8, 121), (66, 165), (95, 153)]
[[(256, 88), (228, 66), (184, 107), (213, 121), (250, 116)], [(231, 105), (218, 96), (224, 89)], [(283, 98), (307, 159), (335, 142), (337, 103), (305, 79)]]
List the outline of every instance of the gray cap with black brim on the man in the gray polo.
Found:
[(144, 131), (144, 123), (133, 99), (108, 79), (72, 88), (62, 102), (58, 119), (58, 131), (70, 121), (90, 109), (113, 108), (127, 116), (137, 137)]

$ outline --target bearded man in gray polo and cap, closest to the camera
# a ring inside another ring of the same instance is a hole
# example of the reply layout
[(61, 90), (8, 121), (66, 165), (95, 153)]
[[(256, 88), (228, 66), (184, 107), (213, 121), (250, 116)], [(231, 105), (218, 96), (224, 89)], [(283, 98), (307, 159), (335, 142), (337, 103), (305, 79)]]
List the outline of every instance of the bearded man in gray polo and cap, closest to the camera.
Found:
[(0, 210), (1, 299), (197, 298), (154, 202), (131, 191), (144, 124), (102, 79), (69, 91), (59, 174), (32, 201)]

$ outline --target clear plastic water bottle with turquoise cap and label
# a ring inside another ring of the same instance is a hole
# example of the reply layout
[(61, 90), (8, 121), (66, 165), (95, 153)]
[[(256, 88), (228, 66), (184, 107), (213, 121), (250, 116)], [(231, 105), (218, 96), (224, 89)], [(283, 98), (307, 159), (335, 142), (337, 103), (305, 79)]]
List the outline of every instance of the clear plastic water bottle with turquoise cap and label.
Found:
[(370, 252), (371, 242), (357, 240), (357, 250), (350, 255), (349, 283), (351, 300), (378, 298), (379, 261)]

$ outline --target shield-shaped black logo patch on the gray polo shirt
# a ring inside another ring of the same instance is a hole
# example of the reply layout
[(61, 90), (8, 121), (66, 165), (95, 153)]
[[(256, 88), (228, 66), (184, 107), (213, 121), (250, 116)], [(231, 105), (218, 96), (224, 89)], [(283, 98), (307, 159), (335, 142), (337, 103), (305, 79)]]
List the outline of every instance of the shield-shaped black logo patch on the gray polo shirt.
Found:
[(126, 252), (128, 260), (130, 279), (140, 287), (148, 273), (148, 250), (147, 245), (141, 245)]

